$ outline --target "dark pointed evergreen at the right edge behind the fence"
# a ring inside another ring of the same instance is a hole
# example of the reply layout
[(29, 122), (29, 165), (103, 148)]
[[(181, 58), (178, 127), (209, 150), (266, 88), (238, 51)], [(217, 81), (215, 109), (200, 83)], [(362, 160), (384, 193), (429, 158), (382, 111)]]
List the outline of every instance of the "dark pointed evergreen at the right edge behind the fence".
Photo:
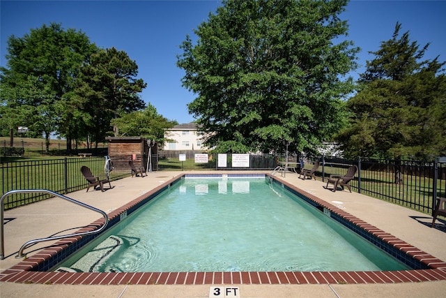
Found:
[[(346, 156), (378, 158), (433, 158), (446, 153), (445, 62), (421, 60), (409, 33), (381, 43), (360, 76), (361, 89), (348, 100), (351, 124), (337, 139)], [(398, 179), (397, 179), (398, 180)]]

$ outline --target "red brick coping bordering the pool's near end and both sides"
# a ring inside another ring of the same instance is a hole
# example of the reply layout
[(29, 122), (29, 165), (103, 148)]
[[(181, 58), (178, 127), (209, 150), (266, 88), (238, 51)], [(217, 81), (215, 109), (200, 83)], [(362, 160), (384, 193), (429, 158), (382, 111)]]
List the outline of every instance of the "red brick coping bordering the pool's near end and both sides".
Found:
[[(176, 178), (178, 179), (178, 178)], [(157, 193), (174, 180), (167, 181), (152, 191), (125, 204), (108, 214), (110, 220), (123, 211), (134, 207), (148, 196)], [(275, 178), (277, 179), (277, 178)], [(49, 260), (69, 244), (81, 237), (72, 237), (58, 241), (54, 246), (43, 249), (39, 253), (23, 260), (19, 264), (0, 273), (0, 281), (12, 283), (69, 284), (69, 285), (238, 285), (238, 284), (360, 284), (360, 283), (419, 283), (423, 281), (446, 280), (446, 262), (425, 253), (397, 237), (380, 230), (360, 218), (325, 202), (314, 195), (302, 191), (295, 186), (278, 179), (282, 184), (293, 188), (310, 200), (338, 214), (363, 230), (376, 235), (379, 239), (391, 244), (400, 251), (419, 260), (429, 269), (403, 271), (274, 271), (274, 272), (50, 272), (36, 271), (39, 264)], [(100, 219), (89, 227), (79, 230), (93, 230), (92, 226), (103, 225)]]

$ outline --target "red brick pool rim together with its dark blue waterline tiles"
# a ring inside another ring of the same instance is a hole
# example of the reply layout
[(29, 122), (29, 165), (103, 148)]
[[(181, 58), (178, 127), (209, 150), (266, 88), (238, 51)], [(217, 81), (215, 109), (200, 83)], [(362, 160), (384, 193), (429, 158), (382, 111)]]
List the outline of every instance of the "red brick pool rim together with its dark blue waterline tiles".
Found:
[[(236, 174), (238, 175), (238, 174)], [(252, 176), (252, 174), (245, 174)], [(174, 186), (182, 177), (231, 177), (232, 174), (180, 174), (169, 181), (160, 181), (159, 186), (141, 193), (138, 198), (109, 211), (109, 228), (119, 223), (125, 215), (130, 215), (148, 201)], [(268, 174), (266, 174), (268, 176)], [(49, 271), (72, 253), (88, 244), (94, 237), (72, 237), (45, 248), (26, 260), (6, 269), (0, 274), (0, 281), (13, 283), (40, 284), (82, 284), (82, 285), (206, 285), (206, 284), (327, 284), (327, 283), (417, 283), (420, 281), (446, 280), (446, 262), (421, 251), (407, 242), (394, 237), (379, 228), (348, 214), (345, 209), (321, 200), (295, 185), (271, 177), (272, 182), (289, 191), (300, 194), (302, 200), (316, 209), (327, 209), (330, 217), (354, 230), (357, 234), (387, 251), (395, 258), (415, 269), (403, 271), (236, 271), (236, 272), (66, 272)], [(103, 225), (99, 219), (91, 223), (91, 229)], [(82, 230), (90, 229), (88, 227)]]

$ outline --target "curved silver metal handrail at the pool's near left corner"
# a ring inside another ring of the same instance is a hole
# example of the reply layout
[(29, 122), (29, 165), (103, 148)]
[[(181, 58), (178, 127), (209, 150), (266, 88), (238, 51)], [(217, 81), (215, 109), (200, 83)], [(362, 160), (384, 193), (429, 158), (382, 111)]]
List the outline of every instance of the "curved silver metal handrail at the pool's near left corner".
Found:
[(22, 258), (24, 255), (26, 256), (26, 254), (23, 254), (23, 250), (30, 246), (31, 244), (36, 244), (38, 242), (43, 242), (43, 241), (51, 241), (51, 240), (56, 240), (56, 239), (63, 239), (63, 238), (68, 238), (68, 237), (77, 237), (77, 236), (81, 236), (81, 235), (88, 235), (88, 234), (97, 234), (99, 232), (102, 232), (102, 230), (105, 230), (107, 228), (107, 224), (109, 222), (109, 217), (107, 216), (107, 214), (100, 210), (100, 209), (96, 209), (95, 207), (91, 207), (88, 204), (84, 204), (82, 202), (79, 202), (77, 200), (73, 200), (72, 198), (68, 198), (65, 195), (61, 195), (59, 193), (55, 193), (54, 191), (49, 191), (47, 189), (20, 189), (20, 190), (14, 190), (14, 191), (8, 191), (6, 193), (4, 193), (1, 198), (0, 198), (0, 260), (3, 260), (5, 258), (5, 246), (4, 246), (4, 230), (3, 230), (3, 200), (8, 197), (8, 195), (12, 195), (13, 193), (48, 193), (50, 195), (54, 195), (54, 197), (59, 197), (62, 198), (64, 200), (67, 200), (68, 202), (72, 202), (75, 204), (78, 204), (81, 207), (84, 207), (86, 209), (90, 209), (92, 211), (98, 212), (100, 213), (102, 216), (104, 216), (105, 218), (105, 223), (98, 229), (98, 230), (92, 230), (92, 231), (88, 231), (88, 232), (80, 232), (80, 233), (74, 233), (74, 234), (66, 234), (66, 235), (61, 235), (61, 236), (55, 236), (55, 237), (47, 237), (47, 238), (40, 238), (40, 239), (34, 239), (34, 240), (30, 240), (28, 242), (26, 242), (25, 244), (22, 245), (22, 247), (19, 250), (19, 253), (17, 254), (17, 256), (15, 258)]

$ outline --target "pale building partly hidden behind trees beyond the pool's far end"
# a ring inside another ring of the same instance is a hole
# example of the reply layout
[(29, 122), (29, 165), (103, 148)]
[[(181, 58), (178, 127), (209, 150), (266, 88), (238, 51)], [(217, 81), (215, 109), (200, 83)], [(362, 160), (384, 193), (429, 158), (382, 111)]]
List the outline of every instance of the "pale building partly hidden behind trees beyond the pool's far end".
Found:
[(201, 142), (201, 134), (197, 131), (197, 124), (178, 124), (169, 129), (164, 137), (171, 142), (164, 144), (164, 150), (201, 150), (206, 149)]

